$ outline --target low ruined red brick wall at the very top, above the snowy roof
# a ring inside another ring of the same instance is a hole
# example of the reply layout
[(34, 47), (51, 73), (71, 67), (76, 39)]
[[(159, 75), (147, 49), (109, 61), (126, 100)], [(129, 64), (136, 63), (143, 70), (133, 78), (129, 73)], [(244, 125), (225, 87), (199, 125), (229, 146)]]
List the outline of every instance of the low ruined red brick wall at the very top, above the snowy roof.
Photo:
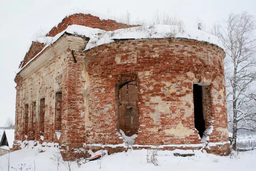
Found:
[(99, 17), (90, 14), (73, 14), (69, 17), (65, 17), (57, 27), (53, 27), (47, 36), (56, 36), (63, 30), (67, 29), (67, 26), (72, 24), (87, 26), (91, 28), (98, 28), (106, 31), (113, 31), (122, 28), (134, 27), (135, 25), (127, 25), (123, 23), (117, 23), (115, 20), (100, 20)]

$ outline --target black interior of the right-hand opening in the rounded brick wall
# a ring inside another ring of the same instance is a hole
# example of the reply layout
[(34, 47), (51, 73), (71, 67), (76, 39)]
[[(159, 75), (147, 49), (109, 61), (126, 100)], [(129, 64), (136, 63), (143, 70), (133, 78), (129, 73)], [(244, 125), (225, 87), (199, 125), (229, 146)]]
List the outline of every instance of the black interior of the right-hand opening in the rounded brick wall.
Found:
[(198, 130), (200, 137), (202, 138), (205, 131), (205, 121), (203, 115), (203, 86), (193, 85), (193, 97), (194, 97), (194, 120), (195, 128)]

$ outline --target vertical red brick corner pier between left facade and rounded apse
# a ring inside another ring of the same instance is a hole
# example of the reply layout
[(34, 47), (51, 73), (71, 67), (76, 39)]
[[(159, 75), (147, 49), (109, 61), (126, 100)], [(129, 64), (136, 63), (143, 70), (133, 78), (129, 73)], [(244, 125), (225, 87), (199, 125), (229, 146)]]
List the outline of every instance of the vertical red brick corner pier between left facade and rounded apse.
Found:
[[(82, 148), (86, 141), (85, 127), (85, 84), (83, 69), (83, 53), (74, 51), (77, 63), (74, 63), (71, 50), (67, 50), (67, 58), (64, 61), (61, 83), (61, 154), (65, 158), (74, 158), (74, 149)], [(69, 56), (69, 58), (68, 58)]]

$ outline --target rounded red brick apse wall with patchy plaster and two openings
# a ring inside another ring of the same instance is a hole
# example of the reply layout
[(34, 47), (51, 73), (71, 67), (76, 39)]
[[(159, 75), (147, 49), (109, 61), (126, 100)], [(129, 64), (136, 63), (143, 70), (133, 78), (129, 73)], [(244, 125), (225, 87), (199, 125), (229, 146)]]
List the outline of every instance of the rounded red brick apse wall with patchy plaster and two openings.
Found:
[[(89, 119), (92, 121), (86, 134), (90, 137), (87, 143), (120, 143), (114, 138), (117, 137), (114, 132), (119, 129), (119, 118), (108, 114), (115, 112), (118, 115), (119, 106), (113, 93), (116, 85), (130, 80), (139, 81), (140, 92), (139, 132), (135, 144), (201, 143), (194, 128), (194, 82), (210, 84), (211, 105), (207, 105), (206, 116), (206, 125), (214, 126), (213, 133), (209, 135), (210, 141), (228, 141), (226, 132), (217, 130), (227, 130), (224, 55), (222, 49), (208, 43), (169, 38), (119, 41), (86, 51), (86, 71), (90, 77)], [(117, 64), (115, 59), (120, 56), (120, 63)], [(127, 63), (128, 60), (132, 62)], [(103, 88), (105, 91), (101, 93)], [(99, 112), (106, 105), (109, 106), (108, 112)], [(102, 123), (107, 124), (102, 126)], [(179, 126), (190, 133), (184, 136), (177, 136), (177, 132), (168, 133)]]

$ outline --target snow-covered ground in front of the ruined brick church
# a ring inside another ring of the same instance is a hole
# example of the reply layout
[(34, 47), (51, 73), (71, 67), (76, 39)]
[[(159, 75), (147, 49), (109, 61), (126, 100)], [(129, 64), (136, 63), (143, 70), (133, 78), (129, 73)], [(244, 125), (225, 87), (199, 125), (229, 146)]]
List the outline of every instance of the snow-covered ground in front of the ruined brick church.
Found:
[[(20, 166), (23, 167), (21, 170), (28, 169), (33, 171), (34, 168), (36, 171), (57, 170), (57, 166), (53, 160), (50, 159), (51, 157), (56, 159), (55, 156), (59, 154), (57, 147), (42, 147), (41, 145), (37, 145), (32, 149), (31, 145), (33, 142), (30, 142), (29, 144), (29, 148), (23, 148), (22, 150), (10, 153), (10, 170), (19, 170)], [(147, 163), (148, 152), (150, 157), (150, 151), (129, 150), (127, 152), (105, 155), (100, 160), (89, 161), (85, 164), (83, 163), (85, 160), (81, 159), (80, 163), (82, 165), (80, 168), (78, 168), (76, 161), (73, 161), (71, 163), (71, 170), (255, 170), (254, 163), (256, 159), (256, 150), (240, 152), (233, 158), (230, 158), (230, 156), (207, 154), (204, 151), (199, 150), (193, 151), (195, 155), (191, 157), (173, 155), (173, 153), (176, 152), (186, 153), (186, 151), (158, 151), (156, 157), (158, 166), (155, 166), (152, 163)], [(191, 150), (188, 152), (191, 153)], [(0, 170), (8, 170), (7, 157), (8, 154), (0, 157)], [(61, 163), (59, 170), (65, 171), (68, 169)]]

